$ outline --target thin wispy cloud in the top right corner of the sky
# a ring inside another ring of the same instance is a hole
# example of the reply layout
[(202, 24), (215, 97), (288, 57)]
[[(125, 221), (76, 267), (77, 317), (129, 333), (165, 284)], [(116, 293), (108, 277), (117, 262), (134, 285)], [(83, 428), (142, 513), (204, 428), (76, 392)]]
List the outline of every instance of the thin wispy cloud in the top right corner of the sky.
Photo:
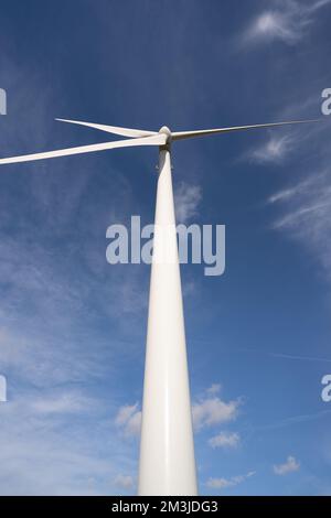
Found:
[(293, 45), (308, 33), (318, 11), (329, 3), (330, 0), (273, 1), (267, 10), (257, 14), (250, 22), (242, 36), (242, 43), (280, 41), (287, 45)]

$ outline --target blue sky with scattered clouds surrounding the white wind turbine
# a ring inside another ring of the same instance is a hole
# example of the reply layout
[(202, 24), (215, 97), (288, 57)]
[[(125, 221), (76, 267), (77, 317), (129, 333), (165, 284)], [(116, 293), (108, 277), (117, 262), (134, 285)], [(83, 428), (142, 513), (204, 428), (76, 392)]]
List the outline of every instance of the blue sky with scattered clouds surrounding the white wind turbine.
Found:
[[(1, 2), (1, 155), (321, 116), (328, 0)], [(178, 214), (226, 225), (226, 271), (183, 266), (200, 492), (331, 494), (328, 122), (173, 145)], [(3, 166), (0, 494), (132, 494), (149, 267), (106, 229), (153, 219), (157, 150)]]

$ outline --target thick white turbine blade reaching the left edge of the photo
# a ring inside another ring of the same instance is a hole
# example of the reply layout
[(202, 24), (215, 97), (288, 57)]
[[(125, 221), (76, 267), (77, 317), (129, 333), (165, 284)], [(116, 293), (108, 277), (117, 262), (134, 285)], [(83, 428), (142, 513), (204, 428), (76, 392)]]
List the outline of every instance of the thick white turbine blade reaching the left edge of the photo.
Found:
[(70, 154), (90, 153), (94, 151), (104, 151), (114, 148), (128, 148), (132, 145), (163, 145), (166, 144), (166, 134), (156, 134), (142, 139), (118, 140), (116, 142), (103, 142), (100, 144), (79, 145), (78, 148), (58, 149), (46, 151), (44, 153), (22, 154), (20, 157), (9, 157), (0, 159), (0, 164), (10, 164), (18, 162), (31, 162), (33, 160), (55, 159), (56, 157), (67, 157)]

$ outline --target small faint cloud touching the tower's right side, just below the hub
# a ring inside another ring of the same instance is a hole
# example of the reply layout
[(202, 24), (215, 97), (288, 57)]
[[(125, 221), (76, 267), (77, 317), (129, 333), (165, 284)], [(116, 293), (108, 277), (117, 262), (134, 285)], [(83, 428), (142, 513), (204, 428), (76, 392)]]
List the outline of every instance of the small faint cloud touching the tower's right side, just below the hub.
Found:
[(202, 199), (201, 187), (181, 182), (174, 191), (174, 199), (178, 223), (186, 223), (197, 214), (197, 207)]

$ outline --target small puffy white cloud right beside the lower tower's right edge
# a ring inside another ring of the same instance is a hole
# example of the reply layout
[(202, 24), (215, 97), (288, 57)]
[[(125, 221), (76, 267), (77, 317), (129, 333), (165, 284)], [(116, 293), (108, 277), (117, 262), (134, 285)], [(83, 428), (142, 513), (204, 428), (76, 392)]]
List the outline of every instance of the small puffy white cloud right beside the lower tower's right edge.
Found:
[(218, 397), (207, 397), (192, 407), (193, 423), (196, 430), (213, 424), (234, 421), (238, 413), (239, 400), (222, 401)]

